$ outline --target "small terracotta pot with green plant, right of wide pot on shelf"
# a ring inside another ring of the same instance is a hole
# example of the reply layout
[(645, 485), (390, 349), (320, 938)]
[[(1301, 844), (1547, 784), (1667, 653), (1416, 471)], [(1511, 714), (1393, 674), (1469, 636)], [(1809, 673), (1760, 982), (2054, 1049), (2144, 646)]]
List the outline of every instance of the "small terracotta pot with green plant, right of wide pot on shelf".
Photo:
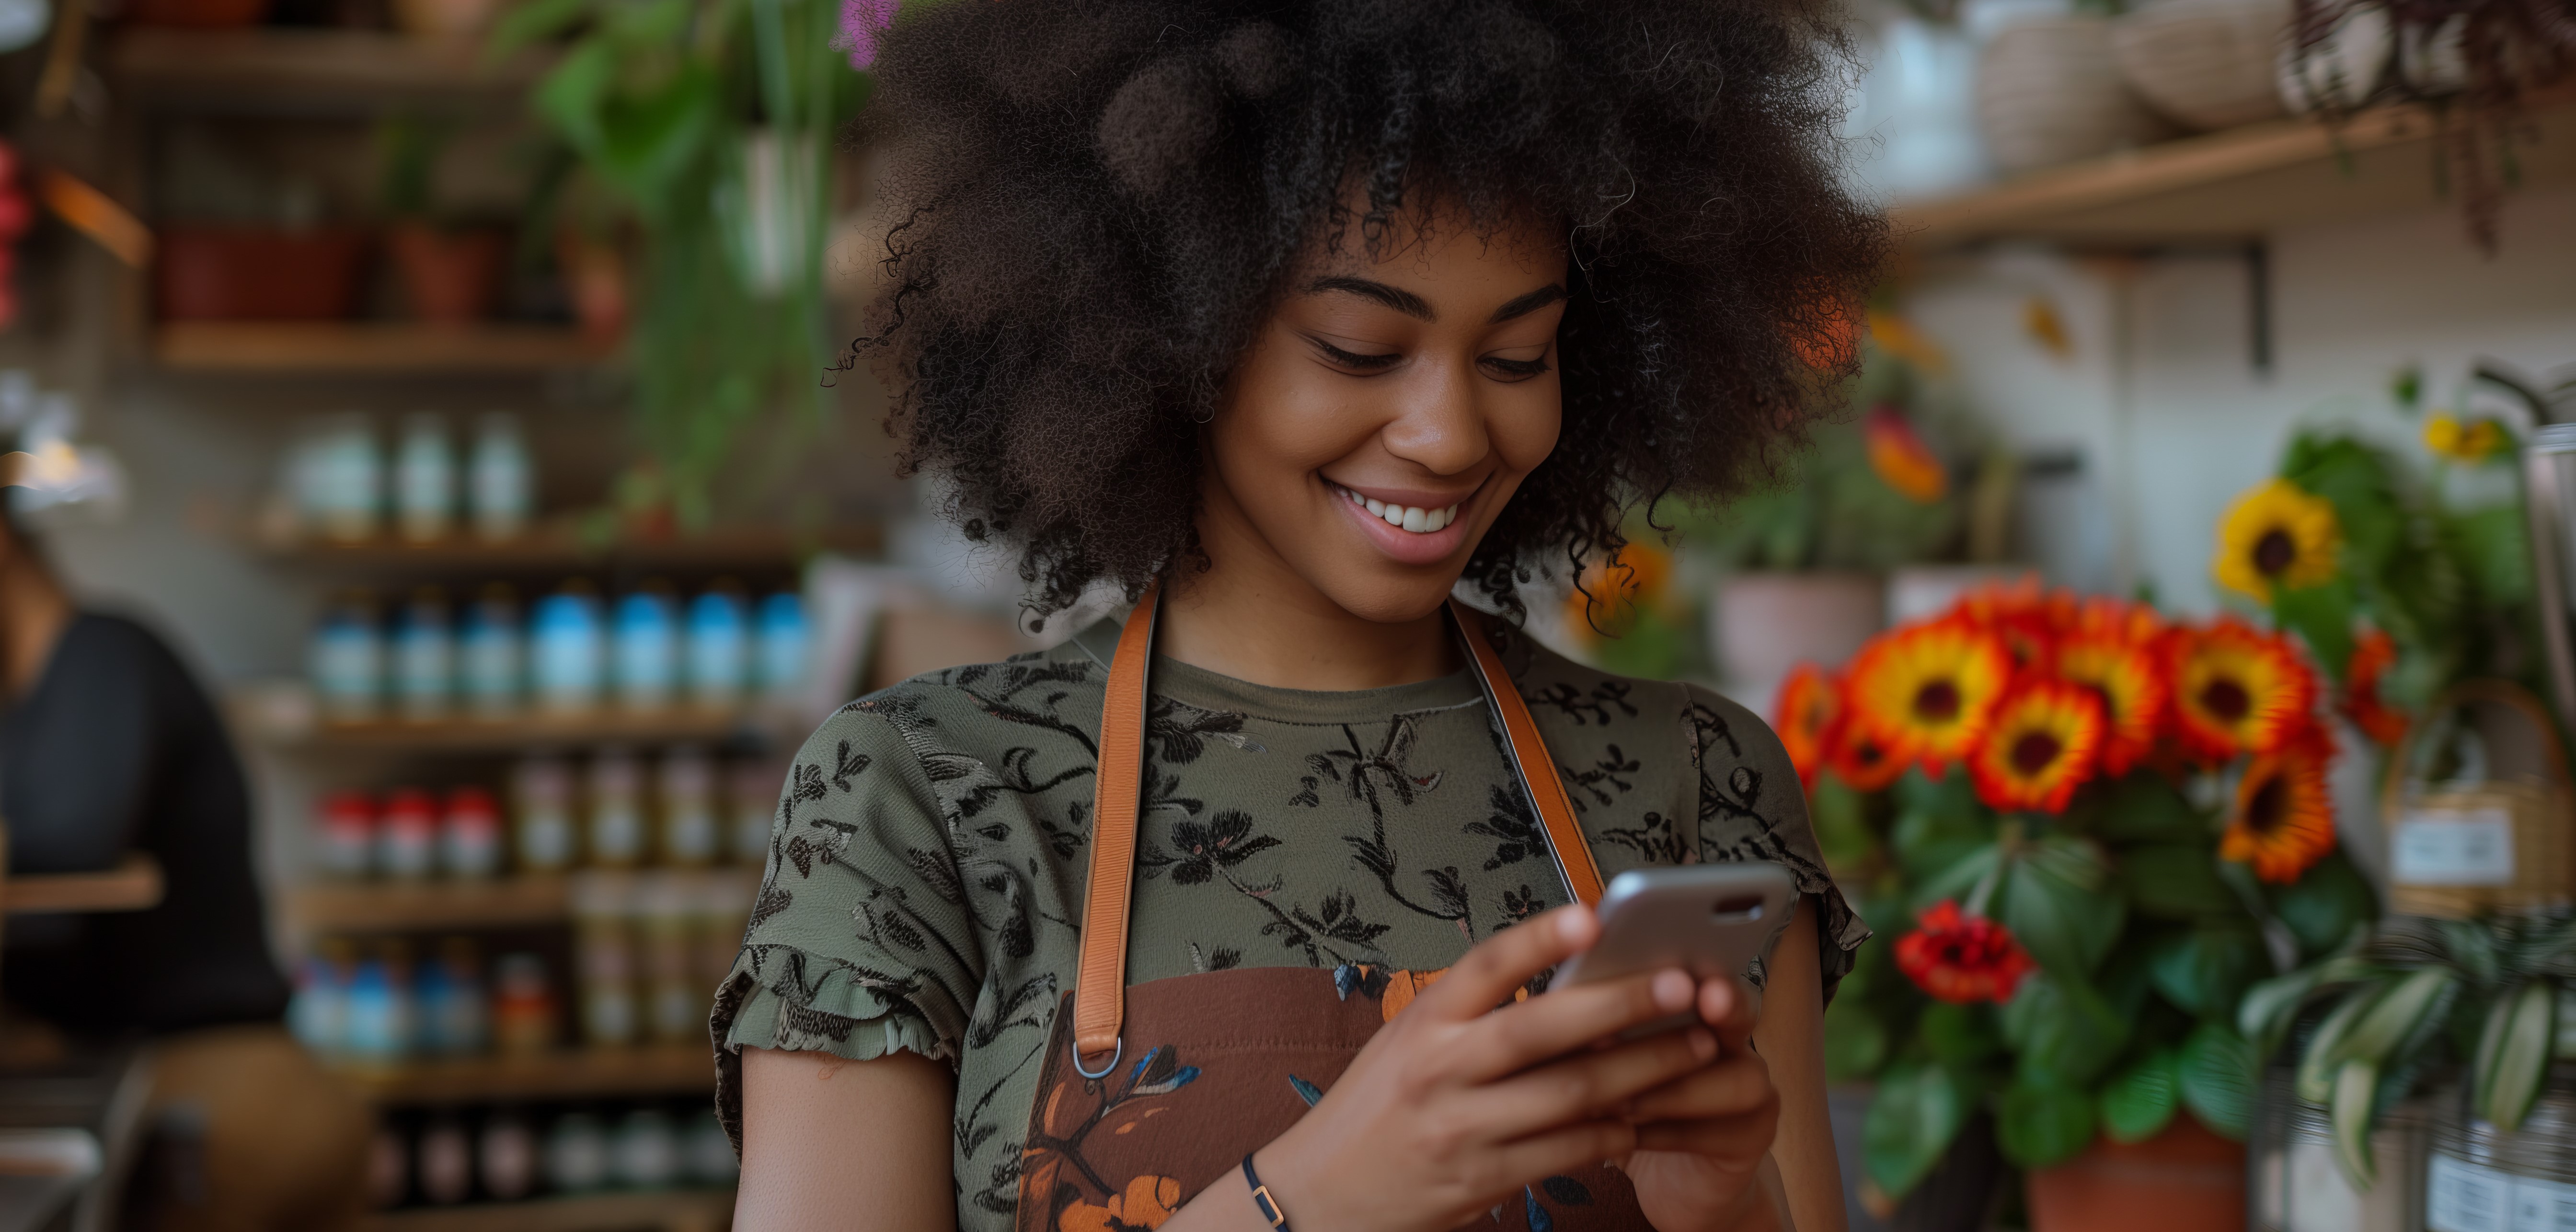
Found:
[(500, 291), (500, 227), (466, 224), (438, 209), (438, 155), (451, 131), (415, 116), (376, 129), (384, 160), (386, 250), (412, 302), (435, 325), (471, 325), (492, 314)]

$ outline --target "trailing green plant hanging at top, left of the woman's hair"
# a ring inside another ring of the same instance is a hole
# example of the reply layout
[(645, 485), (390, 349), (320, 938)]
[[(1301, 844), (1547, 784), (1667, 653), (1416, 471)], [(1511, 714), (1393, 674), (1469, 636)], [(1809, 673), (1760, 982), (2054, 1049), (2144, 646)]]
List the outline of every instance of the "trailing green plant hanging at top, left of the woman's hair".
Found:
[(634, 219), (636, 436), (670, 515), (701, 526), (747, 425), (824, 412), (832, 142), (868, 98), (863, 57), (835, 0), (531, 0), (495, 31), (497, 52), (536, 41), (564, 46), (536, 116)]

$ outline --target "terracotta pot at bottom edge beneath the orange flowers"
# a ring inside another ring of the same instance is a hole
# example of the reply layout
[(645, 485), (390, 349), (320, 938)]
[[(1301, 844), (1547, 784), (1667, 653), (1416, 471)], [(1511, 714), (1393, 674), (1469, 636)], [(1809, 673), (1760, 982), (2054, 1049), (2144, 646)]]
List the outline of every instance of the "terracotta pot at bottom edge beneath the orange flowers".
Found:
[(2027, 1178), (2030, 1232), (2244, 1232), (2246, 1150), (2174, 1113), (2138, 1144), (2092, 1150)]

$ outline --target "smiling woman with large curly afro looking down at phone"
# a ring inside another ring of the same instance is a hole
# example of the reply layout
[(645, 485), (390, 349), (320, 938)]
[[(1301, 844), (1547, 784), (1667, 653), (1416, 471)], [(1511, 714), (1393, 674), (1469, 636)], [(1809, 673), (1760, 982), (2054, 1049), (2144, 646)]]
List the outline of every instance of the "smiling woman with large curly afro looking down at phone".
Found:
[[(1834, 49), (1710, 0), (891, 31), (909, 461), (1038, 611), (1139, 606), (799, 753), (714, 1015), (739, 1227), (1839, 1227), (1868, 930), (1777, 740), (1448, 603), (1793, 446), (1883, 247)], [(1803, 892), (1759, 990), (1530, 995), (1602, 876), (1708, 858)]]

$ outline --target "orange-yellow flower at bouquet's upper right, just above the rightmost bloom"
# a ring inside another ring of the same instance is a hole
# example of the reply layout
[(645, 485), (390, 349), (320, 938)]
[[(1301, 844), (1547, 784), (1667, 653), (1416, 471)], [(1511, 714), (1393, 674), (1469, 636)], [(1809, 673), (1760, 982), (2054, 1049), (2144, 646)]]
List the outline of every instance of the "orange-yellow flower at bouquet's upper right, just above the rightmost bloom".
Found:
[(2275, 753), (2311, 722), (2316, 673), (2287, 639), (2233, 616), (2169, 639), (2174, 729), (2200, 758)]

